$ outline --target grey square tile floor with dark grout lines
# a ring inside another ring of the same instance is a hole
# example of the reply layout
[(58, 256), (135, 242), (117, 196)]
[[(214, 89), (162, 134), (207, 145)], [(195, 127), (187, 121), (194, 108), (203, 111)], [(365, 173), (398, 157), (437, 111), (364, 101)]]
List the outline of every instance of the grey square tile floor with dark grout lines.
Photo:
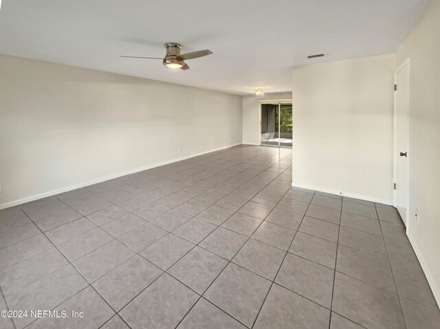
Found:
[(440, 328), (393, 207), (291, 181), (237, 146), (1, 210), (0, 309), (83, 317), (0, 328)]

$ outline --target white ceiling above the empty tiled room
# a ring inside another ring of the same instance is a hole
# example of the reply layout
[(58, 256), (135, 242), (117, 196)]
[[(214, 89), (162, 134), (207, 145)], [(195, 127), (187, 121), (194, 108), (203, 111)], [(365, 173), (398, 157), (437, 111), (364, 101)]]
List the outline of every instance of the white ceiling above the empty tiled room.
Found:
[[(430, 1), (3, 0), (0, 54), (237, 94), (289, 91), (294, 66), (395, 52)], [(166, 42), (214, 54), (187, 71), (118, 57), (163, 57)]]

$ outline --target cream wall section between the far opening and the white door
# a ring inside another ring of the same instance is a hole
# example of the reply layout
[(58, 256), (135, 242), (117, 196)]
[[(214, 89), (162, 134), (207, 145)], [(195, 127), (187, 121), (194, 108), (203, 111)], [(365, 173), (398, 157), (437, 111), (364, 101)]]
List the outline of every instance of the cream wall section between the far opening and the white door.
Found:
[(392, 203), (393, 71), (393, 54), (294, 68), (294, 185)]

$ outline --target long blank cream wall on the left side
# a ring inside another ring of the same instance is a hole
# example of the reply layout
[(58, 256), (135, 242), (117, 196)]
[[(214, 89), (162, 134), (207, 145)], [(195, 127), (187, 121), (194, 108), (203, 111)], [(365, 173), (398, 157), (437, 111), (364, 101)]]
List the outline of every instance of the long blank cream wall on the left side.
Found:
[(0, 55), (0, 207), (240, 144), (241, 108), (238, 95)]

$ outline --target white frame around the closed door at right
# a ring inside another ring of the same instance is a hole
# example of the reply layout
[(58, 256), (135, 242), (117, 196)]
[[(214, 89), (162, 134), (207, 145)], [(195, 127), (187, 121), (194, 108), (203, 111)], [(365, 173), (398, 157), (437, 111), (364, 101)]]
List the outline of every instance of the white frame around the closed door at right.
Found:
[[(406, 152), (408, 152), (408, 161), (406, 162), (406, 179), (407, 179), (407, 186), (406, 186), (406, 234), (408, 234), (409, 232), (409, 224), (410, 224), (410, 207), (409, 207), (409, 203), (410, 203), (410, 189), (409, 189), (409, 185), (410, 185), (410, 127), (409, 127), (409, 117), (410, 117), (410, 59), (406, 58), (406, 60), (404, 60), (403, 63), (401, 63), (401, 65), (395, 70), (394, 73), (394, 84), (397, 84), (397, 73), (399, 73), (402, 69), (404, 69), (404, 67), (408, 67), (408, 73), (407, 73), (407, 80), (408, 80), (408, 95), (407, 95), (407, 99), (406, 102), (408, 102), (408, 139), (406, 140)], [(394, 152), (393, 152), (393, 182), (396, 183), (396, 168), (397, 168), (397, 153), (399, 152), (399, 150), (397, 150), (397, 90), (394, 91), (394, 111), (393, 111), (393, 128), (394, 128), (394, 143), (393, 143), (393, 148), (394, 148)], [(396, 190), (393, 188), (393, 205), (394, 207), (397, 207), (397, 201), (396, 201)]]

